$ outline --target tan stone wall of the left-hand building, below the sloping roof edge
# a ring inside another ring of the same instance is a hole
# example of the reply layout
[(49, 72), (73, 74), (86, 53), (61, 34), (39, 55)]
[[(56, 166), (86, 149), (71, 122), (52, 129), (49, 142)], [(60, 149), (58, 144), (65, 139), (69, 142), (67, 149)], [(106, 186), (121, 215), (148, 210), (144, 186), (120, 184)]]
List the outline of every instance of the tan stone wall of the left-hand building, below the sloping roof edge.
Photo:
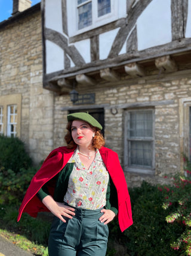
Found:
[(0, 29), (0, 96), (21, 95), (20, 138), (35, 163), (53, 149), (54, 96), (42, 85), (41, 33), (40, 10)]

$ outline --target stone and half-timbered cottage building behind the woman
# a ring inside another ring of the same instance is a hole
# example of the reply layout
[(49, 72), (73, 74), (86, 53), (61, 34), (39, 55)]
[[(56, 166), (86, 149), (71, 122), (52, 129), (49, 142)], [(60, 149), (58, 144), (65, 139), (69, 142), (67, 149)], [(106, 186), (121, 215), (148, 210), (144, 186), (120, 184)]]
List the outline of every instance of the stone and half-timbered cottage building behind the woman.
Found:
[(43, 0), (24, 11), (20, 2), (0, 23), (0, 132), (39, 162), (64, 144), (67, 113), (88, 111), (128, 185), (183, 171), (191, 0)]

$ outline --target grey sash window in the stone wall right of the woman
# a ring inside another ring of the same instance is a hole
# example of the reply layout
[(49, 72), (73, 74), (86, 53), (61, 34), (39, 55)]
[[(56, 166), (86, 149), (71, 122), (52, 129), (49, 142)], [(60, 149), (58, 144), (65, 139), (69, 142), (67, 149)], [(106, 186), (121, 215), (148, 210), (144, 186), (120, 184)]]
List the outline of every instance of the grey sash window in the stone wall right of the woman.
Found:
[(125, 115), (125, 168), (153, 173), (153, 110), (130, 110)]

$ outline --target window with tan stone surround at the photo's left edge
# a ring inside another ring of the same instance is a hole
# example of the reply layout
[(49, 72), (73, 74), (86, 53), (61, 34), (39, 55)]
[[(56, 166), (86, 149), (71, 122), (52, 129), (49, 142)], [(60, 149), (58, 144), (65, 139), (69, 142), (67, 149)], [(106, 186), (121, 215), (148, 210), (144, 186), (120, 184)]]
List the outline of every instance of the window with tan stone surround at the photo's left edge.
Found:
[(21, 95), (0, 96), (0, 134), (20, 137)]

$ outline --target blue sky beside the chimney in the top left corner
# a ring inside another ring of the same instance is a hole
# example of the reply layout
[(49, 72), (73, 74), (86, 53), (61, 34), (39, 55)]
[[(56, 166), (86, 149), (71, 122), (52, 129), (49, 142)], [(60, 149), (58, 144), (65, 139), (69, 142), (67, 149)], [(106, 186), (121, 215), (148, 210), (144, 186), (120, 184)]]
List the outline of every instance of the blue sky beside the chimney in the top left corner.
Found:
[[(32, 5), (38, 4), (41, 0), (30, 0)], [(32, 6), (31, 5), (31, 6)], [(13, 0), (0, 0), (0, 22), (7, 20), (13, 11)]]

